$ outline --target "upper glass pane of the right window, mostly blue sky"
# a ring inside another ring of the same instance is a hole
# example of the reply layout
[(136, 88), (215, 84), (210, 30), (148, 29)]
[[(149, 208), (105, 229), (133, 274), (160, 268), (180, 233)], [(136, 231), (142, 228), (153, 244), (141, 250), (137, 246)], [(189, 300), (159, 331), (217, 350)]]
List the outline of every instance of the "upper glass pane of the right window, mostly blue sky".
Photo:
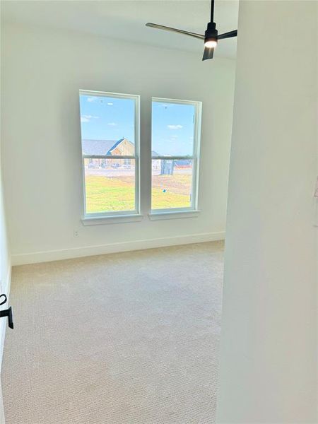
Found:
[(194, 105), (153, 101), (153, 156), (192, 156)]

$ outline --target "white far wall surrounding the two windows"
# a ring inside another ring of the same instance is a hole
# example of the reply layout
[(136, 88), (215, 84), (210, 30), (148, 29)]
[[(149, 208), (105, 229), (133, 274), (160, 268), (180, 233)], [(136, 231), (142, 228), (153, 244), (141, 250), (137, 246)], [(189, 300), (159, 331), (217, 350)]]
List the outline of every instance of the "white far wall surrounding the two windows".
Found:
[[(14, 263), (223, 238), (235, 61), (202, 62), (201, 53), (40, 27), (3, 30), (4, 184)], [(203, 101), (198, 218), (83, 227), (80, 88), (141, 95), (143, 196), (150, 192), (151, 96)]]

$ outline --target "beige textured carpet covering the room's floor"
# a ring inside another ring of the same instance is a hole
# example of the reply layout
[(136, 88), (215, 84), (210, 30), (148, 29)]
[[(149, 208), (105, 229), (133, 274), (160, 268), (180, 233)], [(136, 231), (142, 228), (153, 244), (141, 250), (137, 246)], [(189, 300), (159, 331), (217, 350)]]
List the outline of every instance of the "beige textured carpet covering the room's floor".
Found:
[(211, 424), (223, 243), (13, 268), (6, 424)]

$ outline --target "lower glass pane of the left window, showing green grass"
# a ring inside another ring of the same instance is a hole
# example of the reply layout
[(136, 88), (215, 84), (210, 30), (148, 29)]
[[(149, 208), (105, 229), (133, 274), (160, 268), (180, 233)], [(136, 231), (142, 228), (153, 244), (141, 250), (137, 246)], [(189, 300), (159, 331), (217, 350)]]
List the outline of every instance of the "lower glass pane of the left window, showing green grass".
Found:
[(84, 159), (86, 213), (135, 210), (134, 159)]

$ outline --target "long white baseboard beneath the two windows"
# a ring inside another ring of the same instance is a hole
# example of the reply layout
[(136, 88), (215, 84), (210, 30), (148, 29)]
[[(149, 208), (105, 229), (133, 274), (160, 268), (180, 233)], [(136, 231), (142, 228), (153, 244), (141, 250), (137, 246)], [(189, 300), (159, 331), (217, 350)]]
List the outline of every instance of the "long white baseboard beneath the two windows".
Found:
[(78, 257), (95, 256), (98, 254), (129, 252), (130, 250), (152, 249), (176, 245), (189, 245), (190, 243), (211, 242), (224, 240), (225, 232), (202, 232), (192, 235), (179, 235), (177, 237), (161, 237), (148, 240), (135, 240), (133, 242), (110, 243), (108, 245), (72, 247), (70, 249), (47, 250), (26, 254), (13, 254), (12, 265), (37, 264), (38, 262), (59, 261)]

